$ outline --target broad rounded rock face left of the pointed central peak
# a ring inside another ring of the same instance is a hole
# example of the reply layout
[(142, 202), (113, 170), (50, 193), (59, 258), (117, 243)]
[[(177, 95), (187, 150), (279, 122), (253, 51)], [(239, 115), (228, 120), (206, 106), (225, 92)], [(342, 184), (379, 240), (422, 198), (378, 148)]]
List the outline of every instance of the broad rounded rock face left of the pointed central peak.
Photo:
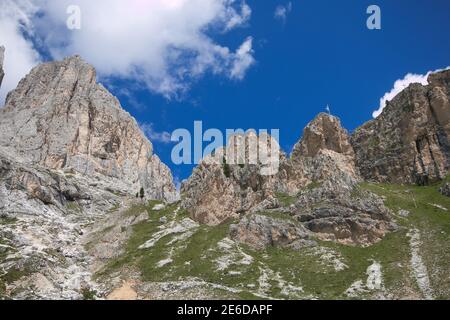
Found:
[[(260, 208), (276, 206), (274, 192), (280, 187), (278, 175), (265, 175), (265, 169), (270, 168), (248, 161), (250, 141), (262, 144), (271, 139), (257, 137), (254, 133), (232, 137), (225, 151), (217, 150), (214, 156), (207, 156), (183, 183), (182, 206), (196, 221), (209, 225), (238, 218), (256, 205)], [(234, 148), (241, 146), (246, 150), (243, 156), (247, 156), (247, 164), (231, 165), (230, 161), (223, 161), (226, 154), (232, 154), (237, 150)]]

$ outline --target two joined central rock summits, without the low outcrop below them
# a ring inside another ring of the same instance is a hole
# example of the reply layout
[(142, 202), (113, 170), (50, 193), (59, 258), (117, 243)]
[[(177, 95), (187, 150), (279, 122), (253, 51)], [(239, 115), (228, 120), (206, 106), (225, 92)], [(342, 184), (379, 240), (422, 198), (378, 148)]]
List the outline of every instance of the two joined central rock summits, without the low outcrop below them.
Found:
[[(295, 195), (307, 185), (325, 180), (351, 189), (358, 181), (349, 136), (333, 116), (320, 114), (312, 121), (290, 159), (279, 150), (270, 164), (251, 164), (250, 154), (257, 149), (250, 150), (250, 145), (255, 141), (263, 145), (277, 143), (270, 136), (257, 137), (252, 132), (236, 135), (227, 144), (226, 152), (220, 150), (214, 157), (206, 157), (194, 169), (181, 188), (183, 207), (193, 219), (220, 224), (248, 212), (279, 207), (277, 193)], [(244, 164), (223, 163), (223, 155), (235, 150), (245, 150)], [(271, 165), (277, 168), (273, 174)]]

